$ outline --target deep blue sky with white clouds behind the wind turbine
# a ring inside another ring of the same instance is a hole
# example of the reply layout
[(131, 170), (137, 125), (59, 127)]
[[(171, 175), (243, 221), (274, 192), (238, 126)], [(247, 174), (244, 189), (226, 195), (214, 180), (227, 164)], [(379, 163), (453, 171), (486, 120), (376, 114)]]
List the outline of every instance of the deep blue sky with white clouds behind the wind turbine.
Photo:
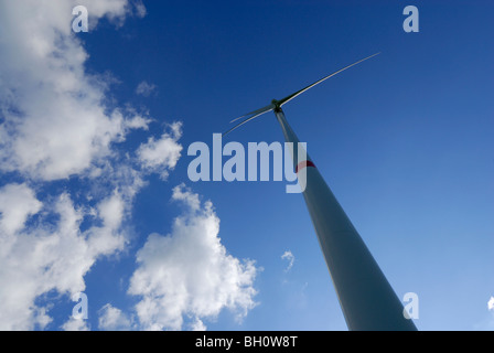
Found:
[(2, 1), (0, 328), (346, 330), (303, 197), (186, 151), (382, 52), (283, 110), (418, 329), (493, 330), (493, 4), (342, 3)]

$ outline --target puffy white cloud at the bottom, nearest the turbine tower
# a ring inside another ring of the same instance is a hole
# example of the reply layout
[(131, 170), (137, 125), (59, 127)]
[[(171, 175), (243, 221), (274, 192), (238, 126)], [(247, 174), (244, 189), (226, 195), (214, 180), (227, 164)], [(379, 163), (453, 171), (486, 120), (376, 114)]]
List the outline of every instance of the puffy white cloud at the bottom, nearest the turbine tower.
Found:
[(176, 186), (173, 200), (189, 206), (175, 218), (171, 234), (151, 234), (137, 254), (129, 293), (141, 296), (136, 306), (140, 324), (148, 330), (180, 330), (184, 320), (204, 330), (204, 318), (223, 309), (240, 320), (256, 306), (251, 260), (227, 254), (218, 237), (219, 218), (213, 204), (197, 204), (197, 195)]

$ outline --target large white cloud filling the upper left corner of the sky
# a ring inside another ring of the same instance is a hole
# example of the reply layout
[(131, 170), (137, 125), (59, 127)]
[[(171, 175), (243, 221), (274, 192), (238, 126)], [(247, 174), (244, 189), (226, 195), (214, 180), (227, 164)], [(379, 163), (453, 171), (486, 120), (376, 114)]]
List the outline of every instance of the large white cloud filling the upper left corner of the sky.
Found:
[[(128, 11), (126, 0), (83, 2), (93, 23)], [(118, 109), (107, 113), (106, 87), (86, 74), (88, 55), (72, 32), (75, 4), (0, 4), (0, 170), (65, 179), (108, 156), (131, 128), (144, 127)]]

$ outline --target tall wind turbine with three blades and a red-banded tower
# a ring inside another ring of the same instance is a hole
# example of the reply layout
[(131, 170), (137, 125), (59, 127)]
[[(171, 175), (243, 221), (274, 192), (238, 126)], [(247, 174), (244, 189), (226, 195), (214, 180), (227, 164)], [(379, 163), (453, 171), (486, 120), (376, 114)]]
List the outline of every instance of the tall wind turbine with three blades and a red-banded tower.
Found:
[(265, 113), (275, 111), (286, 141), (293, 143), (292, 158), (296, 172), (299, 173), (305, 169), (303, 197), (348, 329), (352, 331), (416, 331), (417, 328), (412, 320), (405, 318), (401, 301), (319, 173), (312, 159), (305, 153), (305, 160), (298, 160), (299, 139), (281, 109), (281, 106), (315, 85), (379, 53), (345, 66), (286, 98), (272, 99), (270, 105), (232, 120), (234, 122), (247, 117), (223, 136)]

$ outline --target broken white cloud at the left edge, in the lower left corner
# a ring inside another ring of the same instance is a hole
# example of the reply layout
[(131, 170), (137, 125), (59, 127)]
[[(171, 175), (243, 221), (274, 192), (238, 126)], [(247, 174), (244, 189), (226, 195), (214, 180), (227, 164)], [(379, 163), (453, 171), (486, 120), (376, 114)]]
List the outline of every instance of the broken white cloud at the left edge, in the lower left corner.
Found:
[[(4, 195), (6, 190), (20, 186), (6, 185), (0, 194)], [(84, 291), (84, 276), (96, 260), (124, 249), (127, 242), (120, 227), (128, 205), (117, 192), (97, 204), (95, 216), (100, 225), (83, 232), (80, 223), (94, 210), (89, 212), (74, 206), (67, 193), (40, 206), (32, 190), (25, 185), (22, 190), (33, 197), (31, 204), (36, 204), (36, 210), (41, 208), (40, 220), (32, 226), (20, 225), (22, 221), (18, 221), (18, 225), (10, 228), (14, 229), (13, 233), (6, 231), (6, 220), (1, 220), (0, 330), (30, 330), (46, 325), (51, 320), (46, 308), (36, 307), (35, 299), (51, 290), (60, 293)]]

